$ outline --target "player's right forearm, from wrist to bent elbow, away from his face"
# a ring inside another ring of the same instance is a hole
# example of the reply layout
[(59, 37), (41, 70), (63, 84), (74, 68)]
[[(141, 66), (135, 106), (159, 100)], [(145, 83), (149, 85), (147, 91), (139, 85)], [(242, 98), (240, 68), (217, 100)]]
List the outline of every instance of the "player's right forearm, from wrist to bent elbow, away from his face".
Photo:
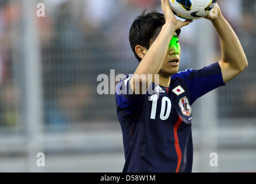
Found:
[(221, 15), (212, 21), (220, 36), (222, 61), (230, 67), (242, 71), (247, 67), (246, 55), (236, 33)]

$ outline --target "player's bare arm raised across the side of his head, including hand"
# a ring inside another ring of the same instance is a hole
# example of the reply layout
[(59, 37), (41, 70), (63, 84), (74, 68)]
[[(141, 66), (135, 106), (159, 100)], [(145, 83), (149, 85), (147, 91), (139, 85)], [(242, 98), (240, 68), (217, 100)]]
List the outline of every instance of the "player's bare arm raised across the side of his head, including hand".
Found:
[[(134, 72), (133, 77), (130, 80), (131, 89), (135, 94), (144, 94), (146, 92), (141, 90), (141, 86), (146, 86), (146, 89), (148, 89), (148, 84), (152, 82), (152, 79), (148, 78), (148, 75), (159, 73), (173, 34), (177, 29), (180, 29), (191, 22), (182, 22), (176, 20), (168, 0), (161, 0), (161, 7), (164, 11), (165, 24), (163, 25), (159, 36), (157, 36), (156, 40), (148, 50), (140, 45), (135, 47), (135, 52), (142, 58), (140, 64)], [(146, 77), (146, 81), (142, 80), (142, 76)], [(135, 90), (136, 85), (140, 88), (140, 90)]]

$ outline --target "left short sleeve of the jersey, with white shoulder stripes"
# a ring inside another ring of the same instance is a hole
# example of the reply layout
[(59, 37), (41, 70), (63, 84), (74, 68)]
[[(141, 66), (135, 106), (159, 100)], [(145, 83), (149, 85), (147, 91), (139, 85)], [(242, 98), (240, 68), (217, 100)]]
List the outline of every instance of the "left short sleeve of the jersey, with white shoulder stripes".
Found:
[(132, 113), (135, 109), (140, 107), (142, 98), (144, 95), (134, 94), (131, 90), (130, 80), (133, 75), (127, 75), (116, 86), (116, 106), (126, 111), (126, 113)]

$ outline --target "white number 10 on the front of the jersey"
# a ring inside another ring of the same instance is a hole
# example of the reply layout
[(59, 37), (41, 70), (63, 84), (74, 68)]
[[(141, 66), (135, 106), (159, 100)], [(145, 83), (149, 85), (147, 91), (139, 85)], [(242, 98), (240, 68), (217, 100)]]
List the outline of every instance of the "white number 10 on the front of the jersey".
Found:
[[(150, 119), (152, 119), (152, 120), (156, 119), (157, 99), (158, 99), (157, 94), (153, 94), (150, 97), (150, 101), (152, 101), (152, 109), (151, 109)], [(166, 113), (164, 114), (166, 102), (167, 102), (167, 110), (166, 110)], [(162, 105), (161, 105), (161, 113), (160, 113), (160, 119), (161, 120), (167, 120), (168, 119), (168, 117), (170, 116), (170, 113), (171, 113), (171, 107), (172, 107), (171, 100), (167, 97), (163, 97), (162, 98)]]

